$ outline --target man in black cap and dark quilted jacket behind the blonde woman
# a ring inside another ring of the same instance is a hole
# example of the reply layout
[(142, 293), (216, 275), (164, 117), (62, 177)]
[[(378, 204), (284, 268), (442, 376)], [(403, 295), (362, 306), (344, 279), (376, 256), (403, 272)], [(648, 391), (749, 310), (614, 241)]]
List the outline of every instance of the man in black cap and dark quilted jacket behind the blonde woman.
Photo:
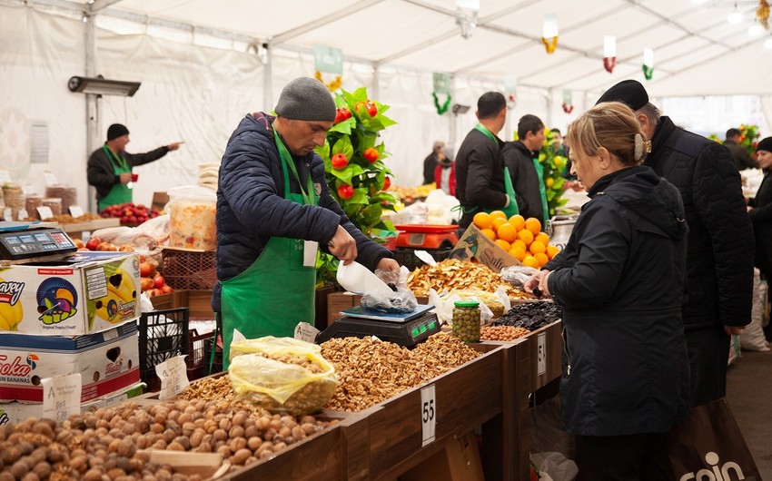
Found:
[(754, 237), (740, 176), (726, 147), (659, 116), (640, 83), (617, 83), (598, 103), (613, 101), (635, 111), (651, 140), (646, 165), (678, 187), (684, 201), (689, 233), (683, 319), (692, 406), (706, 404), (725, 396), (729, 335), (750, 322)]

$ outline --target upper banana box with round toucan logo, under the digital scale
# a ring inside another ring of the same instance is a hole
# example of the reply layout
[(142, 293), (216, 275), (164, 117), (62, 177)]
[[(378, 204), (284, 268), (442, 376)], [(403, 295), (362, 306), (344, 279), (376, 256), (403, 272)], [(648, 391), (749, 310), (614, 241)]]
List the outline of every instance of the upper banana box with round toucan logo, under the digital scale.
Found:
[(137, 319), (139, 256), (79, 251), (0, 267), (0, 332), (81, 336)]

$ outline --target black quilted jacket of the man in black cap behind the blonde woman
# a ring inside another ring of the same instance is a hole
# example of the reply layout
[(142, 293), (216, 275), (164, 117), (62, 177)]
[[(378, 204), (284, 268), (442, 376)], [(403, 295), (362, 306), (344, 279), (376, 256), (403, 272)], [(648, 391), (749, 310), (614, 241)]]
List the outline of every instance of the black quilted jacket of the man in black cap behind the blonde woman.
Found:
[(725, 147), (659, 118), (646, 165), (681, 192), (689, 227), (687, 329), (750, 322), (753, 228)]

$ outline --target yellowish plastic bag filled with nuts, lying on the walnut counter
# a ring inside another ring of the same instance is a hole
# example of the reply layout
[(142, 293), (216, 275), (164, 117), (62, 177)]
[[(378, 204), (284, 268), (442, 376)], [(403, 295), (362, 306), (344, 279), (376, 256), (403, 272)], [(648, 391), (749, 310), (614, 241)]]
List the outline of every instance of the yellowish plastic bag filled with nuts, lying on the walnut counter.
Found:
[(233, 342), (228, 374), (237, 400), (274, 414), (319, 411), (338, 387), (335, 368), (322, 358), (322, 348), (292, 338)]

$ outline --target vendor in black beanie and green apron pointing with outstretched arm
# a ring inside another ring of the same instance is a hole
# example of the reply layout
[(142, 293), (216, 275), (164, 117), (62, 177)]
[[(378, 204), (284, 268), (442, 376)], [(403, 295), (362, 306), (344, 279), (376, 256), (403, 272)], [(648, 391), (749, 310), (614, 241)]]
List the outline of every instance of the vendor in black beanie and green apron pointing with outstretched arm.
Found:
[(150, 152), (129, 153), (125, 151), (127, 143), (129, 129), (114, 123), (107, 129), (107, 142), (88, 158), (88, 183), (96, 189), (98, 211), (104, 211), (109, 205), (132, 201), (133, 167), (157, 161), (167, 152), (180, 148), (180, 142), (174, 142)]

